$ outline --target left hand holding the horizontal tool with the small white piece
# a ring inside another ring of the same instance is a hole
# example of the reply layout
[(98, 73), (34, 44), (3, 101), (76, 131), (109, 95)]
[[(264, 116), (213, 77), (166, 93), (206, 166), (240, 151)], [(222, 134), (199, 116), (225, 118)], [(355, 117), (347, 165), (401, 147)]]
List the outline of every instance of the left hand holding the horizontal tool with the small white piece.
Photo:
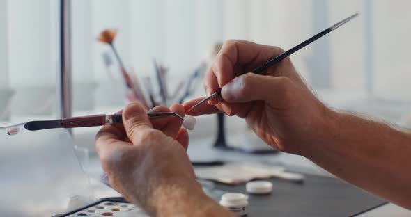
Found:
[[(185, 115), (180, 104), (151, 112), (170, 110)], [(129, 104), (123, 110), (124, 126), (106, 125), (97, 135), (102, 168), (116, 191), (155, 216), (224, 214), (196, 182), (185, 152), (188, 133), (181, 124), (173, 116), (149, 120), (140, 104)]]

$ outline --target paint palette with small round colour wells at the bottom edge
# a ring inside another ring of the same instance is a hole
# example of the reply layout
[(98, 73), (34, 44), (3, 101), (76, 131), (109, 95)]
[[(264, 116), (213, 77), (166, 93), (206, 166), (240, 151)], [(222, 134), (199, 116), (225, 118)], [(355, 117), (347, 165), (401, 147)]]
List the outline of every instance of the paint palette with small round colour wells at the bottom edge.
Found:
[(148, 215), (141, 210), (139, 207), (134, 206), (134, 204), (130, 204), (128, 202), (119, 202), (113, 200), (102, 200), (96, 203), (93, 203), (87, 207), (82, 209), (77, 209), (75, 211), (71, 211), (69, 214), (65, 214), (63, 216), (68, 217), (79, 217), (79, 216), (117, 216), (117, 217), (139, 217), (144, 216), (147, 217)]

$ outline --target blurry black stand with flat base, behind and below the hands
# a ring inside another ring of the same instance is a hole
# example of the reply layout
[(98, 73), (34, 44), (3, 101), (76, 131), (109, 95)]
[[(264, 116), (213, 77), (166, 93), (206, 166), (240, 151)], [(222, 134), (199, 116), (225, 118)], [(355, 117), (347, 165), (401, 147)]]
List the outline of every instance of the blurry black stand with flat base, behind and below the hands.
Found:
[(224, 128), (224, 113), (217, 113), (217, 138), (215, 139), (214, 145), (217, 149), (221, 150), (230, 150), (230, 151), (238, 151), (238, 152), (247, 152), (249, 154), (272, 154), (278, 152), (278, 150), (270, 149), (270, 150), (242, 150), (237, 147), (231, 147), (227, 145), (226, 142), (226, 133)]

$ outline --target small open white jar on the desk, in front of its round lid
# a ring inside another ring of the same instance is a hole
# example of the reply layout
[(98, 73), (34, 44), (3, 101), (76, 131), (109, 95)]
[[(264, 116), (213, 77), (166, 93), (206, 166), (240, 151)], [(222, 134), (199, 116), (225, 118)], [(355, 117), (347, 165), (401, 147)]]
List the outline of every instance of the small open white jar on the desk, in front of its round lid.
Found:
[(237, 216), (247, 216), (248, 197), (242, 193), (225, 193), (219, 204), (232, 211)]

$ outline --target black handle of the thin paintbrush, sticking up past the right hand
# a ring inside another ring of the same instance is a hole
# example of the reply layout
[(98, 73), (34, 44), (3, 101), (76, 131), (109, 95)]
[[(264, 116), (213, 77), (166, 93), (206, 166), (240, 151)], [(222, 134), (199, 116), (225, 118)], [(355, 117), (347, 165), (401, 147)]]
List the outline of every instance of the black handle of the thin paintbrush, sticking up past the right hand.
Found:
[(254, 70), (251, 70), (251, 72), (254, 72), (256, 74), (263, 72), (264, 70), (267, 69), (267, 67), (270, 67), (274, 65), (275, 63), (278, 63), (279, 61), (284, 60), (284, 58), (290, 56), (291, 54), (294, 54), (296, 51), (302, 49), (303, 47), (306, 47), (307, 45), (311, 44), (313, 41), (317, 40), (318, 38), (321, 38), (324, 35), (327, 35), (327, 33), (329, 33), (330, 31), (332, 31), (331, 28), (325, 29), (324, 31), (318, 33), (317, 35), (314, 35), (313, 37), (300, 43), (300, 45), (297, 45), (289, 49), (288, 51), (285, 51), (283, 54), (280, 54), (279, 56), (276, 56), (275, 58), (270, 59), (270, 61), (265, 62), (263, 65), (256, 67)]

